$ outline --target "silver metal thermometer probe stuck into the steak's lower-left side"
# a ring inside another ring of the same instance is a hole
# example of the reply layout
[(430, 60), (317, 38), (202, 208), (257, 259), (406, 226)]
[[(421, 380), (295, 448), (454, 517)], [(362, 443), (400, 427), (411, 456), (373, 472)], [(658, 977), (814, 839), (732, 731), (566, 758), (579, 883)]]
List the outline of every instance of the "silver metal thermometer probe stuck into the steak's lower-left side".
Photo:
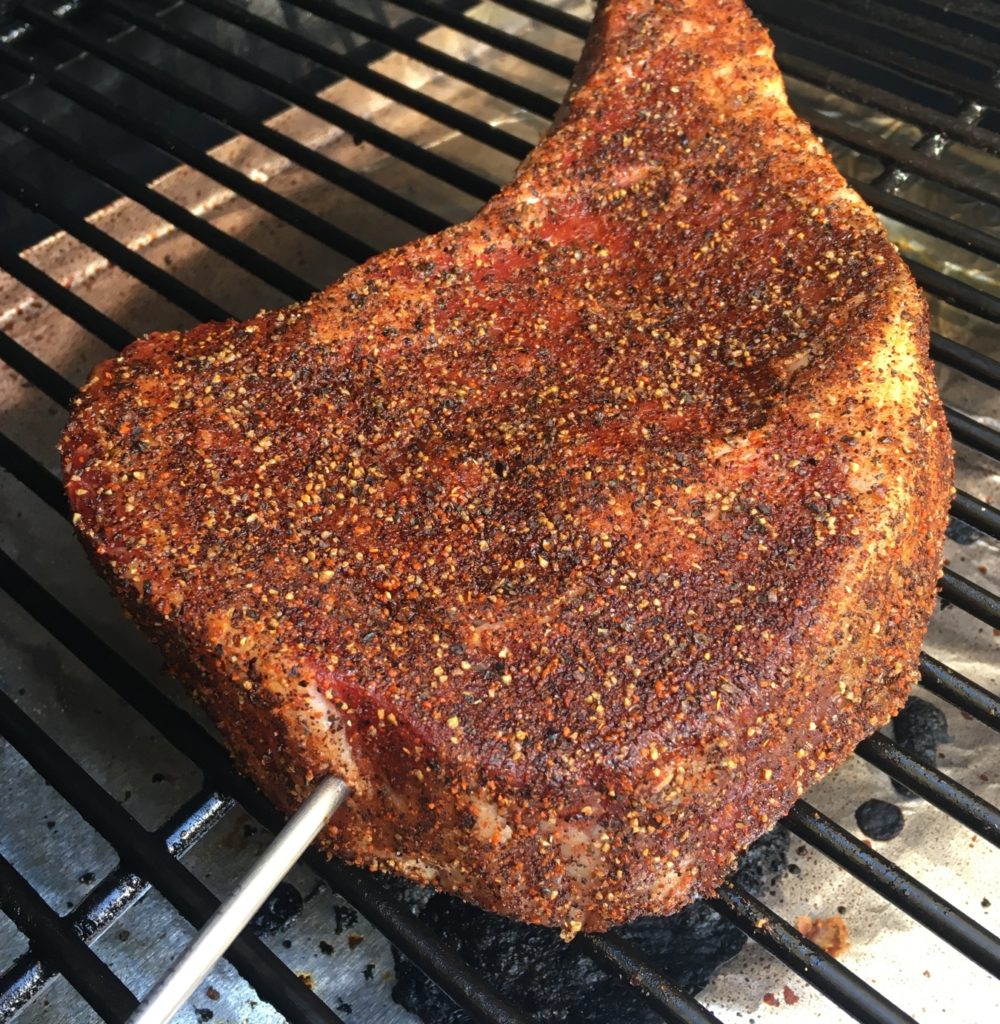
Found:
[(235, 892), (212, 914), (180, 959), (139, 1004), (128, 1024), (168, 1024), (172, 1020), (350, 792), (343, 779), (332, 775), (316, 786)]

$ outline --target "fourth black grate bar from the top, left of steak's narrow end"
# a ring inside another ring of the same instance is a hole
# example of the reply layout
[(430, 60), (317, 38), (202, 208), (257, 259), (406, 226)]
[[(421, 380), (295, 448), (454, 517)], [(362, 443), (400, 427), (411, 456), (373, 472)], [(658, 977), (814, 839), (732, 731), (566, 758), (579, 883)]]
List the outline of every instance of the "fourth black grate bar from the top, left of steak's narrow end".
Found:
[(366, 65), (342, 57), (336, 51), (314, 42), (307, 36), (300, 36), (267, 20), (267, 18), (252, 14), (242, 7), (234, 7), (229, 2), (219, 2), (219, 0), (188, 0), (188, 3), (216, 14), (232, 25), (238, 25), (248, 32), (252, 32), (277, 46), (294, 53), (301, 53), (310, 60), (358, 82), (380, 95), (387, 96), (410, 110), (419, 111), (439, 124), (454, 128), (469, 138), (483, 142), (509, 157), (522, 160), (531, 152), (530, 142), (517, 135), (512, 135), (503, 128), (496, 128), (486, 121), (481, 121), (479, 118), (451, 106), (449, 103), (444, 103), (418, 89), (402, 85), (395, 79), (373, 71)]

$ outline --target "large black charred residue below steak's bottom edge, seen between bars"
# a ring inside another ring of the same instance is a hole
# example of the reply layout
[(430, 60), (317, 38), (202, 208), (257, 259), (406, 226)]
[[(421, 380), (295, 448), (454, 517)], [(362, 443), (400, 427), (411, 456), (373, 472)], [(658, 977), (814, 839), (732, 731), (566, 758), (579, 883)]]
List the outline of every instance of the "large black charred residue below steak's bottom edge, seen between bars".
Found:
[[(775, 828), (743, 855), (735, 878), (755, 896), (774, 889), (785, 871), (788, 834)], [(418, 900), (418, 905), (420, 901)], [(453, 896), (432, 896), (422, 921), (444, 935), (505, 995), (518, 998), (538, 1024), (606, 1024), (662, 1020), (638, 989), (622, 985), (563, 942), (558, 931), (522, 925)], [(669, 918), (642, 918), (613, 929), (675, 984), (695, 993), (732, 959), (746, 936), (702, 901)], [(470, 1024), (471, 1018), (418, 968), (393, 950), (393, 998), (425, 1024)]]

